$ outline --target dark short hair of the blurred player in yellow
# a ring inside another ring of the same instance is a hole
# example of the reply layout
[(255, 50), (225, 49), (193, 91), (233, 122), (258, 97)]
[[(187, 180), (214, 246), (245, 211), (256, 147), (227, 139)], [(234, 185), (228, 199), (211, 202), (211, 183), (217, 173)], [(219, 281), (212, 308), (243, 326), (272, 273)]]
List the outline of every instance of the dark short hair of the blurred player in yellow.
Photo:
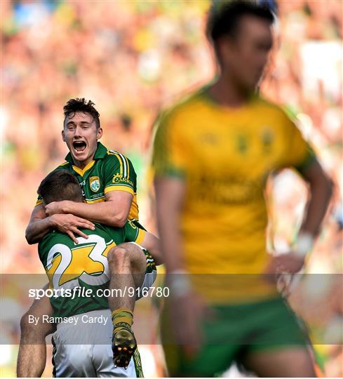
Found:
[(274, 15), (266, 4), (256, 1), (231, 0), (214, 1), (208, 13), (206, 34), (214, 45), (222, 36), (236, 35), (239, 21), (245, 15), (251, 15), (269, 22), (274, 22)]

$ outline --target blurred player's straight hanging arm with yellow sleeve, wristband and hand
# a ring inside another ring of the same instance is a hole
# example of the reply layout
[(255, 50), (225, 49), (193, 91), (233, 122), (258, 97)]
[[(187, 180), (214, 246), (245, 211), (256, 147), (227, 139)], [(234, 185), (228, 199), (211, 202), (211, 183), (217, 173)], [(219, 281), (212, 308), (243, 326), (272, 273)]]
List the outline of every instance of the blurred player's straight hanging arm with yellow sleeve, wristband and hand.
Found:
[[(203, 302), (191, 286), (184, 260), (180, 225), (189, 175), (189, 141), (180, 114), (166, 112), (157, 119), (152, 166), (160, 246), (170, 289), (170, 310), (177, 343), (198, 347)], [(188, 349), (187, 347), (187, 349)], [(192, 349), (191, 347), (191, 349)]]

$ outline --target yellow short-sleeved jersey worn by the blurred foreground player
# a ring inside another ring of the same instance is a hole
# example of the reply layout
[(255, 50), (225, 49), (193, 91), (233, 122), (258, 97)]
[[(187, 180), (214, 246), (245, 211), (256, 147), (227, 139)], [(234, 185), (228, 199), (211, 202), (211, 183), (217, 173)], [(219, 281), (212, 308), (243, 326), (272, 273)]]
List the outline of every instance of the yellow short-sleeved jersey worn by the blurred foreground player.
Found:
[(152, 169), (156, 177), (177, 176), (186, 183), (180, 228), (187, 270), (263, 272), (269, 258), (268, 175), (290, 166), (302, 171), (313, 159), (285, 112), (259, 96), (230, 109), (214, 102), (206, 86), (163, 112), (156, 121)]

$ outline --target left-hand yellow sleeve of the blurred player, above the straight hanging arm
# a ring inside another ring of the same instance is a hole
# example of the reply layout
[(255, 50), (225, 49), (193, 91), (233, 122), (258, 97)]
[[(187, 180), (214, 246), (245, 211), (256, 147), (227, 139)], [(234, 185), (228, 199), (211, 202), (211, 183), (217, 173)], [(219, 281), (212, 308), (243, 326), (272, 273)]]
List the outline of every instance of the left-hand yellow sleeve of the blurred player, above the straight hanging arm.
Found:
[(177, 115), (160, 114), (156, 120), (152, 170), (156, 177), (179, 177), (187, 173), (187, 144)]

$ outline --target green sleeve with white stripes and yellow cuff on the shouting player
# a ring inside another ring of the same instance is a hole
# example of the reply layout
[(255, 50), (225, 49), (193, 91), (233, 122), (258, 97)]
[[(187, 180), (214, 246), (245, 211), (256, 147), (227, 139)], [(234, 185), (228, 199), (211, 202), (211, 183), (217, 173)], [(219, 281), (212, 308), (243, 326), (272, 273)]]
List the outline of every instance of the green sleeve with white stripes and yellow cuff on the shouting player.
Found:
[(119, 152), (108, 152), (105, 162), (105, 194), (125, 191), (134, 196), (137, 192), (137, 175), (130, 159)]

